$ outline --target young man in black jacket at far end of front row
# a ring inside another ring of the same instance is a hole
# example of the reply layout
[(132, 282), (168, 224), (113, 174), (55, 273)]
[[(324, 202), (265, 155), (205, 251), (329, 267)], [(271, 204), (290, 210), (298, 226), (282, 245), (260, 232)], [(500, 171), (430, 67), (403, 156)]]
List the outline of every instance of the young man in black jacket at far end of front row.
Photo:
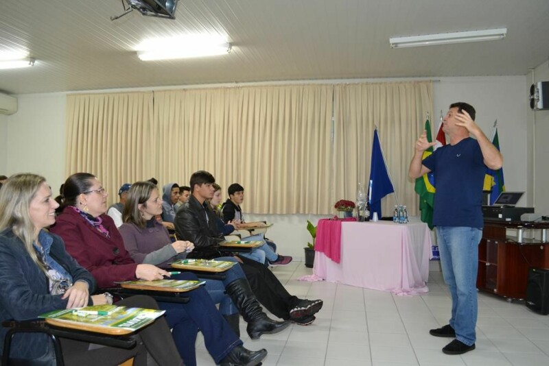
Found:
[[(265, 223), (261, 221), (255, 221), (255, 222), (249, 222), (249, 223), (244, 221), (242, 208), (240, 208), (240, 204), (244, 202), (243, 186), (241, 186), (238, 183), (233, 183), (227, 189), (227, 193), (229, 193), (229, 198), (227, 198), (227, 200), (224, 202), (223, 206), (221, 207), (223, 221), (225, 221), (225, 223), (229, 223), (229, 221), (231, 221), (231, 224), (236, 224), (237, 229), (253, 228), (257, 226), (261, 227), (265, 225)], [(268, 240), (267, 238), (265, 238), (265, 241), (272, 248), (273, 252), (277, 251), (277, 245), (275, 243)], [(270, 258), (268, 259), (270, 260)], [(281, 265), (281, 264), (288, 264), (291, 261), (292, 261), (291, 256), (279, 256), (279, 258), (277, 258), (274, 261), (270, 260), (270, 264)]]

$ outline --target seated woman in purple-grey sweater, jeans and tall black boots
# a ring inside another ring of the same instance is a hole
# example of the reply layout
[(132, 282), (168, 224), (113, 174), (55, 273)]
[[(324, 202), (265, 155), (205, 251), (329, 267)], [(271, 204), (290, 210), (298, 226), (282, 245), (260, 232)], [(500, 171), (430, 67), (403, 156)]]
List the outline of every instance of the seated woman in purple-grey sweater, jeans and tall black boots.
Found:
[[(119, 230), (124, 239), (124, 247), (136, 263), (163, 267), (174, 260), (184, 259), (194, 249), (194, 244), (190, 241), (170, 243), (167, 230), (154, 219), (154, 215), (162, 210), (161, 202), (158, 189), (150, 182), (136, 182), (128, 192), (128, 200), (124, 206), (124, 224)], [(220, 259), (236, 262), (233, 257)], [(223, 280), (205, 279), (205, 288), (213, 302), (220, 304), (220, 313), (235, 334), (240, 336), (239, 310), (248, 322), (247, 330), (251, 339), (258, 339), (261, 334), (280, 332), (290, 325), (286, 321), (269, 319), (261, 310), (239, 265), (226, 270), (224, 275)], [(176, 274), (172, 278), (178, 276), (180, 275)]]

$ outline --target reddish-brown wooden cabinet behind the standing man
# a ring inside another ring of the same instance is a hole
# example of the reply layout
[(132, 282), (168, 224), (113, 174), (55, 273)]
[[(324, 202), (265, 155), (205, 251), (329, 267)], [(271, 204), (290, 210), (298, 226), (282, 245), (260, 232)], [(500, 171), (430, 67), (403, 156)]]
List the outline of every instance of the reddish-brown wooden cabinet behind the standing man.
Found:
[[(477, 288), (503, 297), (524, 299), (528, 268), (549, 268), (549, 243), (525, 239), (523, 234), (525, 230), (548, 228), (549, 223), (484, 222), (478, 246)], [(522, 232), (507, 236), (507, 229)]]

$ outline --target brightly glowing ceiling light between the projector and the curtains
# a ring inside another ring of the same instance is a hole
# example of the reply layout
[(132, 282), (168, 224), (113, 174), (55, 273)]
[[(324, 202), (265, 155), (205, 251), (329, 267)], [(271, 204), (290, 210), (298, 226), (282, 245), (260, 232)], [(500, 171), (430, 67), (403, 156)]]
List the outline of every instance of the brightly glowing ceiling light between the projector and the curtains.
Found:
[(180, 36), (145, 40), (136, 48), (143, 61), (218, 56), (231, 52), (231, 44), (219, 36)]

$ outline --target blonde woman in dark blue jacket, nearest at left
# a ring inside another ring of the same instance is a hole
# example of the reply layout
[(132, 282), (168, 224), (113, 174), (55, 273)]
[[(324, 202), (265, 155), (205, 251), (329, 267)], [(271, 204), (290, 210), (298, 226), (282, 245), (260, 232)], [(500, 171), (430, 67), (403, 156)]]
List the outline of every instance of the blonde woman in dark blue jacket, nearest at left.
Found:
[[(45, 228), (56, 221), (58, 203), (40, 175), (12, 175), (0, 191), (0, 323), (36, 319), (52, 310), (105, 304), (93, 276), (65, 251), (62, 239)], [(150, 297), (120, 302), (130, 307), (157, 308)], [(8, 328), (0, 328), (3, 341)], [(61, 339), (65, 365), (118, 365), (134, 357), (134, 365), (147, 365), (147, 351), (159, 365), (181, 365), (176, 345), (164, 319), (137, 333), (132, 350), (99, 347)], [(170, 352), (171, 350), (171, 352)], [(0, 347), (0, 353), (2, 349)], [(16, 334), (10, 359), (18, 365), (56, 365), (53, 344), (46, 334)]]

